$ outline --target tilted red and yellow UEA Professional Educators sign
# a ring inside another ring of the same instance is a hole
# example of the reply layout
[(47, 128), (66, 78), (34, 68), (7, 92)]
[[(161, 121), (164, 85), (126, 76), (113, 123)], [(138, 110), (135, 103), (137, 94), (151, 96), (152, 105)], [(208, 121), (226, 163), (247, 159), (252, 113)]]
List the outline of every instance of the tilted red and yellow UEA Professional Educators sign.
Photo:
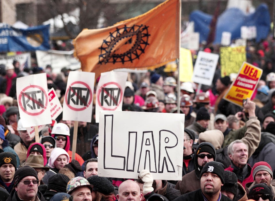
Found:
[(243, 62), (237, 78), (231, 84), (223, 99), (243, 107), (243, 99), (251, 98), (262, 76), (262, 72), (262, 69)]

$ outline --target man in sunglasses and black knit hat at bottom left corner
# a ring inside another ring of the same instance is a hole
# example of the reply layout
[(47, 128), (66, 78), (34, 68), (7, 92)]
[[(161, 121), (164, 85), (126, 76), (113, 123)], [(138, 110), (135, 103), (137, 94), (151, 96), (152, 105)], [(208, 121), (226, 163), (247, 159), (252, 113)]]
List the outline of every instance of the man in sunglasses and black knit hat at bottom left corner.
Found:
[(45, 201), (38, 191), (37, 172), (30, 166), (20, 167), (14, 174), (14, 189), (7, 201)]

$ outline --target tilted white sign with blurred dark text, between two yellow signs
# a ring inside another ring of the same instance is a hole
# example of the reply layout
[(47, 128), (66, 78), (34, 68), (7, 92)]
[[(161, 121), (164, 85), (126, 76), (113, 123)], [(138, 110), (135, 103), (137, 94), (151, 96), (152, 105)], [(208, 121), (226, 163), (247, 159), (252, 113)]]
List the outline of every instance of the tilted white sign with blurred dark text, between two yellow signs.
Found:
[(199, 51), (192, 76), (193, 82), (211, 86), (218, 60), (218, 54)]

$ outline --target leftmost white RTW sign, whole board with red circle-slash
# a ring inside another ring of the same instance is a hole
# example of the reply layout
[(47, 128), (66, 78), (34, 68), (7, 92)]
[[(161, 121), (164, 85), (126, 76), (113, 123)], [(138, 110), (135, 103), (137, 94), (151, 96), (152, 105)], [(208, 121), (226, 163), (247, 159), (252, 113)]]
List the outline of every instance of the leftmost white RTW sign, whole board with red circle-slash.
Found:
[(23, 127), (52, 123), (46, 73), (17, 78), (16, 91)]

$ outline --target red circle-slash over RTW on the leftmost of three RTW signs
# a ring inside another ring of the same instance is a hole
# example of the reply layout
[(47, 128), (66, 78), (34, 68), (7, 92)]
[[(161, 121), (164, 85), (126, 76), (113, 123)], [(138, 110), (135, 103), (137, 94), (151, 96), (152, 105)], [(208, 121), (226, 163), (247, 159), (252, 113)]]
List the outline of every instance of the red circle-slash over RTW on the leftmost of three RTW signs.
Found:
[(19, 94), (19, 107), (32, 116), (42, 114), (48, 106), (48, 93), (38, 85), (25, 87)]

